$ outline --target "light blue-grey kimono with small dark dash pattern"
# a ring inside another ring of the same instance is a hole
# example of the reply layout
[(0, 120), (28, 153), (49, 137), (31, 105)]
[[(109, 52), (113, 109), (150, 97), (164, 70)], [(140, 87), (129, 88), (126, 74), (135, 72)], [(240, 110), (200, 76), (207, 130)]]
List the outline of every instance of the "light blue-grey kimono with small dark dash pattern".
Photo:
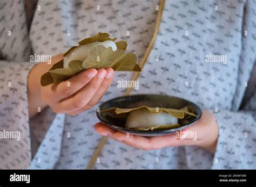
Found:
[[(29, 56), (63, 53), (100, 31), (126, 40), (127, 51), (140, 62), (156, 26), (159, 1), (27, 2), (0, 2), (0, 131), (21, 132), (19, 141), (0, 139), (0, 168), (85, 169), (102, 137), (93, 129), (98, 105), (75, 117), (48, 107), (29, 119), (27, 78), (35, 65)], [(139, 89), (131, 94), (177, 96), (210, 110), (219, 126), (217, 150), (140, 150), (108, 139), (93, 168), (256, 169), (255, 20), (253, 0), (165, 1)], [(226, 55), (227, 61), (206, 62), (207, 55)], [(117, 81), (132, 75), (116, 72), (100, 103), (123, 96), (125, 88), (118, 88)]]

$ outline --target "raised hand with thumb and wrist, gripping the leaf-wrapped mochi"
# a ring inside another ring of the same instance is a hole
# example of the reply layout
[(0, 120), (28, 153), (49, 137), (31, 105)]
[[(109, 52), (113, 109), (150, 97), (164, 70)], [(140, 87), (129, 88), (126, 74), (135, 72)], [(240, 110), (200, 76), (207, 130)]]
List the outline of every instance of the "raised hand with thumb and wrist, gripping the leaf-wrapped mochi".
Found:
[(53, 64), (63, 59), (62, 54), (52, 57), (52, 63), (39, 63), (34, 66), (28, 76), (29, 117), (35, 116), (38, 107), (41, 111), (50, 106), (56, 113), (76, 116), (93, 107), (105, 94), (112, 83), (112, 68), (86, 69), (81, 73), (58, 84), (42, 87), (41, 76)]

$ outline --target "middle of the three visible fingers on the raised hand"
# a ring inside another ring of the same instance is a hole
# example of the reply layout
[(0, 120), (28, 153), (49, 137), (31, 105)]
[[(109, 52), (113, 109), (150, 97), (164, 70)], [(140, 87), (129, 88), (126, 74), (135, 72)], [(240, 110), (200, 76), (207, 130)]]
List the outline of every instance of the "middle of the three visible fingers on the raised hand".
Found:
[(66, 111), (66, 113), (82, 109), (89, 100), (91, 100), (93, 95), (95, 95), (105, 76), (106, 70), (98, 69), (97, 75), (93, 77), (88, 84), (72, 96), (61, 100), (59, 106)]

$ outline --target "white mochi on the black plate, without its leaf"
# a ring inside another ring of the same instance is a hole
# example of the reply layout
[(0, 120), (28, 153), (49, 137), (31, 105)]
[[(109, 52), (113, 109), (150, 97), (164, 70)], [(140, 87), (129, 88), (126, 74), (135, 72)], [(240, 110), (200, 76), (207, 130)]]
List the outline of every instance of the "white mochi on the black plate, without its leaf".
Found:
[(150, 128), (160, 125), (177, 124), (178, 119), (167, 112), (151, 113), (148, 109), (138, 109), (130, 112), (126, 119), (126, 128)]

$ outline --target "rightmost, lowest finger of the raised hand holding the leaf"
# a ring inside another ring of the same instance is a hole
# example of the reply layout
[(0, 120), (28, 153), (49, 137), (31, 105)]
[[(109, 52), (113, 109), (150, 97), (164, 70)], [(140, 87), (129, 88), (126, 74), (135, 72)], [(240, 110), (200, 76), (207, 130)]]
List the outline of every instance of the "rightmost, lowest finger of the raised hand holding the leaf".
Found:
[(112, 82), (114, 70), (112, 68), (107, 68), (106, 71), (107, 71), (106, 77), (104, 78), (104, 81), (102, 82), (102, 84), (100, 84), (100, 87), (96, 91), (95, 95), (84, 107), (82, 107), (82, 109), (69, 113), (71, 116), (76, 116), (81, 112), (89, 110), (91, 107), (95, 106), (99, 102), (100, 98), (102, 98), (102, 96), (104, 95), (105, 90), (109, 88)]

